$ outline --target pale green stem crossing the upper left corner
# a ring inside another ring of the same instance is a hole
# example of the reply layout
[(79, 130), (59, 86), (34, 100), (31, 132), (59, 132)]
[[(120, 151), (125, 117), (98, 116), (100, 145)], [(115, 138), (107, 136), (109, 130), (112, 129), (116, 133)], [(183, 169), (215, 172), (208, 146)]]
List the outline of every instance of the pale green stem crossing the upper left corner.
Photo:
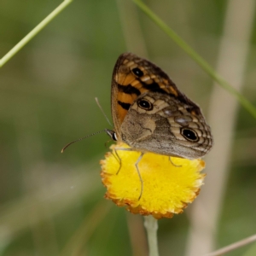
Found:
[(51, 20), (59, 15), (61, 11), (65, 9), (71, 2), (73, 2), (73, 0), (64, 0), (54, 11), (52, 11), (44, 20), (42, 20), (38, 26), (29, 32), (25, 38), (21, 39), (13, 49), (10, 49), (9, 52), (4, 55), (2, 59), (0, 59), (0, 67), (3, 67), (6, 62), (8, 62), (23, 46), (25, 46), (33, 37), (35, 37), (38, 32), (44, 28), (44, 26), (47, 26)]

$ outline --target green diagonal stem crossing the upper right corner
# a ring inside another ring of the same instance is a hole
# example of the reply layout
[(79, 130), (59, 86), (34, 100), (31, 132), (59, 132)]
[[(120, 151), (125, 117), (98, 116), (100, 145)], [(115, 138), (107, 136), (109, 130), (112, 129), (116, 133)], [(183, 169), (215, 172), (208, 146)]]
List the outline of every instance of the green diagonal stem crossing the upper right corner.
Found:
[(172, 38), (172, 40), (183, 49), (212, 79), (218, 82), (225, 90), (228, 90), (233, 96), (236, 97), (238, 102), (241, 103), (249, 113), (253, 115), (256, 119), (256, 108), (251, 102), (241, 95), (236, 89), (234, 89), (225, 79), (223, 79), (218, 73), (216, 73), (213, 68), (205, 61), (200, 55), (198, 55), (194, 49), (192, 49), (189, 44), (185, 43), (182, 38), (180, 38), (176, 32), (174, 32), (166, 23), (160, 19), (154, 12), (148, 8), (141, 0), (132, 0), (137, 6), (143, 10), (143, 12), (148, 15), (148, 17), (154, 21), (154, 23), (160, 27), (166, 34)]

